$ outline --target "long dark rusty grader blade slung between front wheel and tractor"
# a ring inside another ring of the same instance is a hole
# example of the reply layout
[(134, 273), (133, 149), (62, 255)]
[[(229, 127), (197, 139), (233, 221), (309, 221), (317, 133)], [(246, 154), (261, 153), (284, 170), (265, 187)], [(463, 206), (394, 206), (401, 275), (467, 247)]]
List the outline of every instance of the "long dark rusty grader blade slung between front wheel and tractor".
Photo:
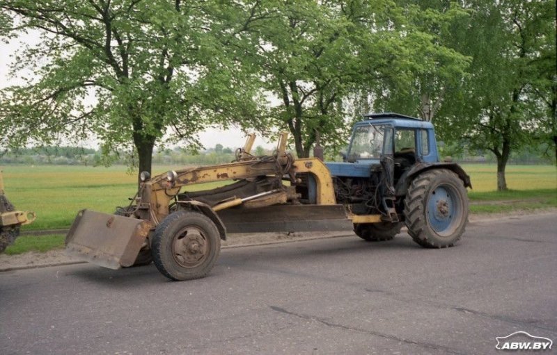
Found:
[(342, 205), (275, 205), (262, 208), (230, 208), (219, 217), (228, 233), (273, 231), (352, 231)]

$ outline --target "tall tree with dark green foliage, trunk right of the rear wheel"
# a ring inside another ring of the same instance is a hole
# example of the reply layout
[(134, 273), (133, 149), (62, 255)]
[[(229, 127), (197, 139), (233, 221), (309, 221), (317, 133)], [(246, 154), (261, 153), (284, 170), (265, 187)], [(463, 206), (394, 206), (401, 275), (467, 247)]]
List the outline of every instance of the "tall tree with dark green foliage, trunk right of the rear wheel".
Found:
[[(543, 55), (535, 45), (547, 36), (549, 1), (472, 1), (469, 31), (460, 51), (473, 57), (460, 105), (453, 106), (446, 135), (459, 136), (473, 149), (488, 149), (497, 160), (497, 190), (507, 190), (510, 153), (528, 145), (540, 120), (531, 99), (533, 63)], [(545, 9), (545, 10), (543, 10)], [(554, 26), (551, 31), (554, 31)], [(554, 44), (553, 44), (554, 45)], [(450, 128), (449, 128), (450, 127)]]

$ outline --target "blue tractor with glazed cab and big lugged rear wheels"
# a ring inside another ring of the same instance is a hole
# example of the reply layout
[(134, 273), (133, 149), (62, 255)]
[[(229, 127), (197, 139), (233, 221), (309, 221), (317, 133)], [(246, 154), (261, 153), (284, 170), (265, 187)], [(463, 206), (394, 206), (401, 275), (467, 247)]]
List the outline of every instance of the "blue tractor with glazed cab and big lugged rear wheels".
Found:
[(381, 222), (354, 223), (368, 241), (392, 239), (406, 224), (423, 247), (451, 247), (468, 218), (470, 178), (441, 163), (434, 127), (398, 113), (375, 113), (354, 125), (343, 163), (327, 163), (339, 204)]

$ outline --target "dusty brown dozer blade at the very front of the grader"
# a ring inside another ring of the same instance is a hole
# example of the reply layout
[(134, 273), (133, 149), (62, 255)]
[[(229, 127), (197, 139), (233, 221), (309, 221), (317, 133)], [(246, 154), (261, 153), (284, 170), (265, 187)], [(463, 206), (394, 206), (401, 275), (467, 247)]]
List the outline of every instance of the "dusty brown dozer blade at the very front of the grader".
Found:
[(132, 266), (150, 228), (146, 220), (80, 210), (65, 237), (66, 254), (113, 270)]

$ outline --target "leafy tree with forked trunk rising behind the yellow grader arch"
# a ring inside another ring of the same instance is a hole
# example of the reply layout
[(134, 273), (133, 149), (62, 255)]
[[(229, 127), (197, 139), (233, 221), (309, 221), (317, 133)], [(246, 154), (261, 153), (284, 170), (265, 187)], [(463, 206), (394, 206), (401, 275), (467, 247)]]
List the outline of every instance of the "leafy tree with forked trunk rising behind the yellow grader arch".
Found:
[[(277, 99), (272, 122), (290, 131), (297, 156), (345, 143), (345, 99), (378, 79), (398, 50), (389, 31), (391, 1), (268, 1), (272, 14), (252, 28), (262, 88)], [(382, 73), (378, 74), (379, 72)]]

